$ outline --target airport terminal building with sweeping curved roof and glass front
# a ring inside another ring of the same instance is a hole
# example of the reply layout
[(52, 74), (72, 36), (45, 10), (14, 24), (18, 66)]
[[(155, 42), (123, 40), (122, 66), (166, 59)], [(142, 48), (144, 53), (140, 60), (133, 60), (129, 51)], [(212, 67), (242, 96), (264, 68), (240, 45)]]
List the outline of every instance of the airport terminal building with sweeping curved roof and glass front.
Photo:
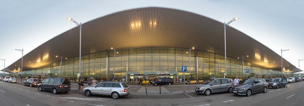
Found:
[[(181, 66), (187, 66), (187, 79), (225, 76), (223, 22), (198, 13), (167, 7), (131, 8), (83, 23), (81, 35), (81, 78), (178, 79), (183, 76)], [(284, 58), (281, 71), (280, 55), (231, 26), (226, 29), (226, 41), (228, 78), (246, 77), (245, 69), (248, 77), (256, 78), (281, 77), (281, 73), (288, 77), (297, 71)], [(78, 27), (24, 55), (22, 78), (59, 77), (60, 56), (64, 57), (61, 76), (78, 78)], [(21, 77), (21, 58), (5, 72)]]

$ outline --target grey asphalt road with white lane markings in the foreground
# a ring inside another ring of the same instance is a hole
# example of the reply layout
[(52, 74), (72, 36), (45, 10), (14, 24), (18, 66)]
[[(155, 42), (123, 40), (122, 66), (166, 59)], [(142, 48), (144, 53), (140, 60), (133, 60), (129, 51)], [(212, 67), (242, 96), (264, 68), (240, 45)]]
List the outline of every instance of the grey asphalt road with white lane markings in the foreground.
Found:
[[(51, 91), (38, 91), (37, 87), (22, 86), (20, 83), (6, 83), (0, 81), (0, 105), (1, 106), (120, 106), (120, 105), (181, 105), (181, 106), (300, 106), (304, 104), (304, 81), (289, 83), (287, 88), (268, 89), (266, 93), (255, 93), (250, 97), (234, 95), (230, 93), (217, 93), (210, 96), (198, 94), (191, 90), (185, 94), (167, 95), (133, 95), (114, 100), (110, 97), (91, 96), (86, 97), (78, 91), (53, 94)], [(174, 92), (174, 87), (165, 87)], [(139, 88), (136, 88), (139, 89)], [(176, 90), (182, 90), (176, 87)], [(191, 88), (190, 88), (191, 89)], [(131, 89), (132, 90), (132, 89)]]

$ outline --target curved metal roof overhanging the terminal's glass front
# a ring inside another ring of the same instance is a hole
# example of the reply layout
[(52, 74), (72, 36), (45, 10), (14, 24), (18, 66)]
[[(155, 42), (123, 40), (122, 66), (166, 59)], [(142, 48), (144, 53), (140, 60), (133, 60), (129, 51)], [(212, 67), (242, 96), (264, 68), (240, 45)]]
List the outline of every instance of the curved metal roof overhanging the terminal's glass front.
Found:
[[(111, 47), (141, 46), (195, 47), (202, 51), (224, 54), (222, 22), (176, 8), (141, 7), (113, 12), (83, 23), (81, 38), (81, 54), (109, 50)], [(227, 56), (237, 58), (249, 55), (250, 57), (244, 58), (245, 61), (264, 67), (269, 67), (265, 61), (275, 61), (271, 68), (281, 70), (281, 56), (243, 32), (228, 27), (226, 42)], [(65, 31), (26, 54), (23, 57), (23, 70), (33, 68), (33, 64), (28, 61), (39, 61), (39, 64), (35, 64), (36, 67), (59, 61), (60, 58), (56, 58), (56, 55), (79, 55), (78, 27)], [(8, 67), (15, 65), (21, 65), (21, 58)], [(285, 59), (284, 65), (286, 70), (295, 67)]]

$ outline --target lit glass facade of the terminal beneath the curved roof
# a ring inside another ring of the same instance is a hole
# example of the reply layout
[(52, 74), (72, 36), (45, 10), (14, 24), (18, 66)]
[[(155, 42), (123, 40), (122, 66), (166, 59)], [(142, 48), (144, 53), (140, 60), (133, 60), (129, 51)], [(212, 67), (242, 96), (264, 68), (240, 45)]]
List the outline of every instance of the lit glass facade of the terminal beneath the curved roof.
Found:
[[(191, 56), (189, 56), (190, 54)], [(63, 60), (61, 77), (78, 78), (78, 63), (78, 57)], [(184, 48), (138, 47), (116, 49), (116, 52), (109, 50), (83, 55), (81, 57), (81, 78), (98, 78), (106, 81), (114, 78), (115, 74), (116, 79), (123, 79), (126, 76), (129, 76), (129, 79), (133, 74), (128, 75), (128, 73), (134, 72), (150, 72), (150, 75), (157, 77), (163, 75), (157, 72), (167, 71), (172, 72), (170, 77), (175, 79), (183, 75), (181, 66), (187, 66), (185, 77), (188, 79), (190, 76), (195, 79), (209, 79), (223, 78), (225, 75), (225, 57), (223, 55), (199, 50), (189, 51), (189, 49)], [(269, 73), (273, 77), (281, 75), (279, 71), (269, 71), (267, 67), (247, 61), (244, 61), (244, 69), (249, 69), (248, 77), (265, 78), (269, 77)], [(138, 73), (138, 75), (143, 76), (143, 73)], [(20, 74), (20, 72), (15, 72), (11, 73), (11, 76), (18, 77)], [(283, 75), (290, 76), (291, 73), (283, 72)], [(22, 76), (59, 77), (60, 61), (35, 68), (35, 71), (23, 71)], [(243, 76), (242, 60), (227, 57), (227, 77), (233, 78), (235, 76), (239, 78)], [(246, 77), (245, 72), (244, 76)]]

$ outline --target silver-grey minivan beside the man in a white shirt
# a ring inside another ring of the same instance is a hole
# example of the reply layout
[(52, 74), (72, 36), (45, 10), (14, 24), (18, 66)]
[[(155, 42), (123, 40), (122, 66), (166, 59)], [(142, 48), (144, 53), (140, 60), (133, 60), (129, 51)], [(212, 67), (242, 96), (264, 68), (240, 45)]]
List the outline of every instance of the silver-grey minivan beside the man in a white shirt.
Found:
[(217, 92), (229, 92), (231, 93), (231, 88), (234, 86), (233, 80), (229, 78), (215, 78), (209, 79), (203, 84), (200, 84), (195, 88), (195, 92), (200, 94), (210, 95), (211, 93)]

